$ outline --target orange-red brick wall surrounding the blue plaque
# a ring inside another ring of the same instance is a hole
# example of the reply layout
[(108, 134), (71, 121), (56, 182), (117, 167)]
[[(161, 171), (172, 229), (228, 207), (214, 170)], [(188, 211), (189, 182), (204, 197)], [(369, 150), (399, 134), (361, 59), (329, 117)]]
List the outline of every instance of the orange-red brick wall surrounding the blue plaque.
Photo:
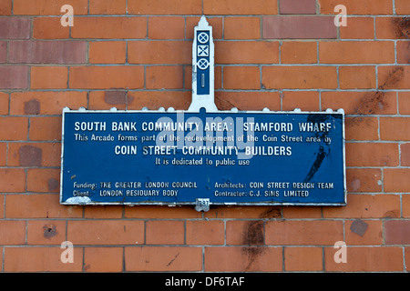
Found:
[[(344, 109), (347, 206), (59, 205), (62, 108), (188, 109), (202, 14), (219, 109)], [(408, 0), (0, 0), (0, 15), (2, 272), (410, 269)]]

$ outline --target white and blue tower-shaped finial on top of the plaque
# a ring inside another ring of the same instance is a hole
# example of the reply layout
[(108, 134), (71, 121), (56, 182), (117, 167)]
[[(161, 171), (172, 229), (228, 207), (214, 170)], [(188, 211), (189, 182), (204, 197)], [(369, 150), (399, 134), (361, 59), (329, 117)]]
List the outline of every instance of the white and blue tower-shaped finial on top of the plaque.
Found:
[(192, 103), (188, 111), (217, 112), (214, 102), (214, 45), (212, 26), (204, 15), (194, 28), (192, 45)]

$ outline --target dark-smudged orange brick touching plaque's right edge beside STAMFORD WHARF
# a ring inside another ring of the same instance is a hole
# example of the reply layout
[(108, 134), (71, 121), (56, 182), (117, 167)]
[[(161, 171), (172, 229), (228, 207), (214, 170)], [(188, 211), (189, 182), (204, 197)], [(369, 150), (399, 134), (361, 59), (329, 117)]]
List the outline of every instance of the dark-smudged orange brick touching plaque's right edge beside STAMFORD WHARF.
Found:
[(344, 120), (346, 140), (378, 140), (377, 117), (346, 117)]

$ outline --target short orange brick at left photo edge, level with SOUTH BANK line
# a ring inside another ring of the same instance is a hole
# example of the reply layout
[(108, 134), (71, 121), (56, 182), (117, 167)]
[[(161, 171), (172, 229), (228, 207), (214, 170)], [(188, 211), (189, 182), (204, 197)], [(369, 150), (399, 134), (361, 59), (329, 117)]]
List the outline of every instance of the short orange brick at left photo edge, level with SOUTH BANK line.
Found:
[(0, 140), (26, 140), (28, 119), (26, 117), (0, 116)]

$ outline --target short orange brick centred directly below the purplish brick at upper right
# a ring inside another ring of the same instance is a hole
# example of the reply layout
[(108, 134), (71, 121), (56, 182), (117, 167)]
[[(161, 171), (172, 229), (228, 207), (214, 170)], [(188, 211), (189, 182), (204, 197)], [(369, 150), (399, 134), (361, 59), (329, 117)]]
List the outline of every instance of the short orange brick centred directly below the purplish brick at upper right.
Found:
[(317, 63), (316, 42), (283, 42), (281, 46), (282, 64)]

